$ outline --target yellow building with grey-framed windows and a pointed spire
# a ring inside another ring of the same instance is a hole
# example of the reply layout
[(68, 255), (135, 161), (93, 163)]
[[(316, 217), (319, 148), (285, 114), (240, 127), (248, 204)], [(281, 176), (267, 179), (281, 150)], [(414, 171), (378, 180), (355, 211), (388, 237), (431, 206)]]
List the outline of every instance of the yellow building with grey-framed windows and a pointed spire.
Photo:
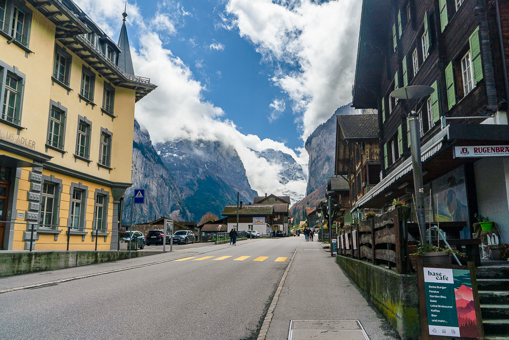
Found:
[[(0, 249), (117, 249), (131, 186), (135, 76), (71, 0), (0, 0)], [(2, 40), (2, 38), (0, 38)]]

